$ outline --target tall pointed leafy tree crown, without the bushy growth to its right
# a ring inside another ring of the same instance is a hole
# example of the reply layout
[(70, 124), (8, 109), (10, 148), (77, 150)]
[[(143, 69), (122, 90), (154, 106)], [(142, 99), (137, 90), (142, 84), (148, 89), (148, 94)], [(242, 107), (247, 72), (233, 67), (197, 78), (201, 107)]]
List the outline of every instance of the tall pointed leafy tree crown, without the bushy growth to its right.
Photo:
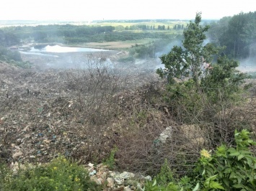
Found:
[(183, 47), (174, 46), (167, 55), (162, 55), (160, 59), (165, 68), (159, 68), (156, 73), (162, 78), (167, 78), (169, 83), (175, 83), (175, 79), (182, 80), (184, 77), (193, 78), (199, 89), (200, 78), (203, 77), (204, 62), (211, 62), (213, 55), (219, 49), (211, 44), (203, 45), (206, 39), (204, 34), (209, 26), (201, 27), (201, 14), (197, 13), (195, 22), (190, 22), (187, 30), (183, 32)]

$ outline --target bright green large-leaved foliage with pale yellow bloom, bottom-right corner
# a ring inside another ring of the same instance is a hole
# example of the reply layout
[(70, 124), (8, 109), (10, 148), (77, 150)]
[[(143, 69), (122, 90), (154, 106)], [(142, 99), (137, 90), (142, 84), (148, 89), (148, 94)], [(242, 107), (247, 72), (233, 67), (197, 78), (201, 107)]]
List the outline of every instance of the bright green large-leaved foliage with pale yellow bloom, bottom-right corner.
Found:
[(179, 181), (164, 164), (154, 181), (146, 182), (145, 190), (255, 190), (256, 157), (250, 147), (256, 142), (245, 129), (235, 131), (234, 140), (235, 146), (222, 144), (214, 154), (203, 149), (193, 174)]

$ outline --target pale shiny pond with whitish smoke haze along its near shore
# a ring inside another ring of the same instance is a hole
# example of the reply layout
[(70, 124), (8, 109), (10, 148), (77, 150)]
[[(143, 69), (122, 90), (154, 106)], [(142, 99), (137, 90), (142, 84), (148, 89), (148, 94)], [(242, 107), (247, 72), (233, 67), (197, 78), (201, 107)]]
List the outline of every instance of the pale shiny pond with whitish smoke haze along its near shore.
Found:
[[(92, 67), (110, 67), (114, 65), (110, 55), (115, 50), (84, 47), (64, 47), (60, 45), (37, 45), (30, 50), (19, 51), (25, 60), (35, 63), (42, 69), (87, 69)], [(94, 56), (92, 56), (94, 55)]]

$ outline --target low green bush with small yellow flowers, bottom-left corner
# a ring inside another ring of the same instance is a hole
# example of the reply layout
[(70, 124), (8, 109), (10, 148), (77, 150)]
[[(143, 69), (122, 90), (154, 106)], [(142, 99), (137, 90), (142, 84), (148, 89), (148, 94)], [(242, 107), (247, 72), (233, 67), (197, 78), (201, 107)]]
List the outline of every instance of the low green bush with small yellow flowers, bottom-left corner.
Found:
[(6, 177), (4, 190), (100, 190), (89, 179), (84, 167), (67, 161), (64, 157), (53, 159), (45, 165), (27, 166), (18, 169), (17, 174)]

